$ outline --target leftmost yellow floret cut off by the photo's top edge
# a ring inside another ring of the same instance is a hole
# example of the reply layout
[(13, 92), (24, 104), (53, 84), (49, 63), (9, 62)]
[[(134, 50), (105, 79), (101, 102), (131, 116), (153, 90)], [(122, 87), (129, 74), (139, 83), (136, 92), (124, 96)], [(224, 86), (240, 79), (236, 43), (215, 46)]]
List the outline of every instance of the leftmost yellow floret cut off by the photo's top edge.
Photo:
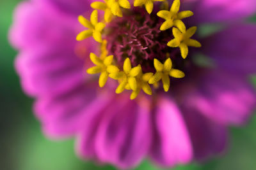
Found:
[(105, 11), (104, 20), (110, 22), (113, 15), (118, 17), (123, 17), (123, 13), (120, 7), (130, 9), (131, 4), (127, 0), (104, 0), (105, 2), (93, 2), (91, 4), (92, 8), (96, 10)]

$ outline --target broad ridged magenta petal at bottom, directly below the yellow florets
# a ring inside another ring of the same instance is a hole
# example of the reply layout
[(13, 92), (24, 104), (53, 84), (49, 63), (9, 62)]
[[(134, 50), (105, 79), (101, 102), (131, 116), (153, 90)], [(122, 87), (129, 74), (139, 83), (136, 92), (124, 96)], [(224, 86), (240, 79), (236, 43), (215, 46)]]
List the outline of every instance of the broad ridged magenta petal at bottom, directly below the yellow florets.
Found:
[(151, 141), (149, 110), (126, 97), (109, 99), (111, 104), (86, 118), (78, 148), (82, 157), (131, 168), (147, 154)]

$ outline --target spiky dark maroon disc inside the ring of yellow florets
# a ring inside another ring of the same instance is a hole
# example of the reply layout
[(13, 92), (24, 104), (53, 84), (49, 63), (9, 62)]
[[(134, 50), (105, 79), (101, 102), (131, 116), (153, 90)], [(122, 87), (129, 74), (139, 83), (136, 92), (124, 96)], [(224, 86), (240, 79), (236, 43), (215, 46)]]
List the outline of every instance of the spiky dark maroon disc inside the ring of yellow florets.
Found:
[(168, 57), (180, 56), (179, 49), (166, 45), (173, 38), (172, 31), (160, 31), (161, 24), (163, 21), (156, 13), (148, 15), (141, 8), (133, 8), (108, 24), (108, 52), (115, 56), (121, 67), (129, 58), (132, 66), (141, 65), (143, 73), (156, 72), (154, 59), (164, 62)]

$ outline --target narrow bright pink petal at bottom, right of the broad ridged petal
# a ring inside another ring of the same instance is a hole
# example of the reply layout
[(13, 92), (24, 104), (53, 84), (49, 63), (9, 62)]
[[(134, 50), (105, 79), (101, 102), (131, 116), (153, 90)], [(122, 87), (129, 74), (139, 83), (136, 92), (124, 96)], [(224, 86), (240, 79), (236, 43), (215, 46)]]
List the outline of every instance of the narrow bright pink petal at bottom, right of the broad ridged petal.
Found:
[(168, 98), (157, 101), (156, 136), (152, 145), (151, 157), (161, 166), (186, 164), (193, 157), (188, 129), (179, 108)]

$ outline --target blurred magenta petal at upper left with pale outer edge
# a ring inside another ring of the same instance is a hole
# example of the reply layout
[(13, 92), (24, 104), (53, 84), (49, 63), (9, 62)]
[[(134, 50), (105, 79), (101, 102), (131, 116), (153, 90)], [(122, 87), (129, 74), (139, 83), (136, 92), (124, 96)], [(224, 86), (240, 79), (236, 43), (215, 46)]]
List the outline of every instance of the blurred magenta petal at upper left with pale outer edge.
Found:
[(10, 41), (19, 49), (74, 45), (77, 27), (77, 17), (69, 17), (38, 3), (24, 2), (15, 10)]

